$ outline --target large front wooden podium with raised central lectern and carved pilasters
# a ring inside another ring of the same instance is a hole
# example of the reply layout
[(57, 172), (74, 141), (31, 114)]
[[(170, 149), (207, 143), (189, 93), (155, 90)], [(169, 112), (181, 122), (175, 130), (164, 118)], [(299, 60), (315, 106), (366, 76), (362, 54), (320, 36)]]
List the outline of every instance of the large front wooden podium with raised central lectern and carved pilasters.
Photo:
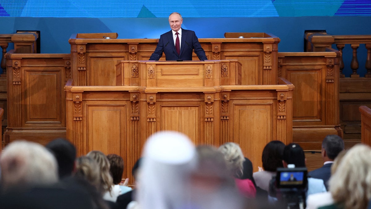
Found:
[(78, 155), (115, 153), (130, 168), (148, 136), (174, 130), (196, 145), (236, 142), (257, 168), (267, 142), (292, 142), (294, 86), (284, 79), (240, 85), (240, 68), (236, 60), (120, 61), (117, 86), (75, 86), (69, 80), (67, 138)]

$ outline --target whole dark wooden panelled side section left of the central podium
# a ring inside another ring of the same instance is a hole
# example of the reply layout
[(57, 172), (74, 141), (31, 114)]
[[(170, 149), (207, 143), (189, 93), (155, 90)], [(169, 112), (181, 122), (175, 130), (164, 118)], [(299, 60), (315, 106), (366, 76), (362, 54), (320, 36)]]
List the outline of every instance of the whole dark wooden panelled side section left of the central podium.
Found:
[(26, 139), (46, 144), (66, 135), (63, 87), (69, 54), (6, 54), (7, 129), (4, 143)]

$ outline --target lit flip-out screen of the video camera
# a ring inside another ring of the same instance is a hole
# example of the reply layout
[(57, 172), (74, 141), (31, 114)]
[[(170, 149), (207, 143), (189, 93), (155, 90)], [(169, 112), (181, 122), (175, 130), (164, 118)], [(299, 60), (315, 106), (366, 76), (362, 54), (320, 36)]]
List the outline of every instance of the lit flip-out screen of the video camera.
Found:
[(278, 188), (305, 188), (308, 184), (306, 168), (277, 168)]

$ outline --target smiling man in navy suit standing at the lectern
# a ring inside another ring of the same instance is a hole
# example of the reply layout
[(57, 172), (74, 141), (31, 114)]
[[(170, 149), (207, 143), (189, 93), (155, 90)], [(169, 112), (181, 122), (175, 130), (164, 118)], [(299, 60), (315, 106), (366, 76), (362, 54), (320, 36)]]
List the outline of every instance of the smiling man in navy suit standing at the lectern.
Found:
[(160, 36), (157, 47), (152, 53), (150, 60), (159, 60), (162, 52), (165, 53), (168, 61), (192, 60), (194, 51), (200, 60), (207, 60), (204, 49), (201, 47), (196, 33), (192, 30), (181, 28), (183, 23), (182, 16), (173, 12), (169, 16), (171, 30)]

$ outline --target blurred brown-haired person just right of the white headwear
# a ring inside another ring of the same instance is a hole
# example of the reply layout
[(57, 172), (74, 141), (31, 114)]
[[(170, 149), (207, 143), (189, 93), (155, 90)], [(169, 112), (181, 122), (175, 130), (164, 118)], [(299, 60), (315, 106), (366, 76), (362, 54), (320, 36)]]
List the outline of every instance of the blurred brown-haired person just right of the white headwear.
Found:
[(197, 147), (197, 167), (191, 175), (191, 202), (185, 208), (242, 208), (242, 196), (224, 155), (215, 147)]

